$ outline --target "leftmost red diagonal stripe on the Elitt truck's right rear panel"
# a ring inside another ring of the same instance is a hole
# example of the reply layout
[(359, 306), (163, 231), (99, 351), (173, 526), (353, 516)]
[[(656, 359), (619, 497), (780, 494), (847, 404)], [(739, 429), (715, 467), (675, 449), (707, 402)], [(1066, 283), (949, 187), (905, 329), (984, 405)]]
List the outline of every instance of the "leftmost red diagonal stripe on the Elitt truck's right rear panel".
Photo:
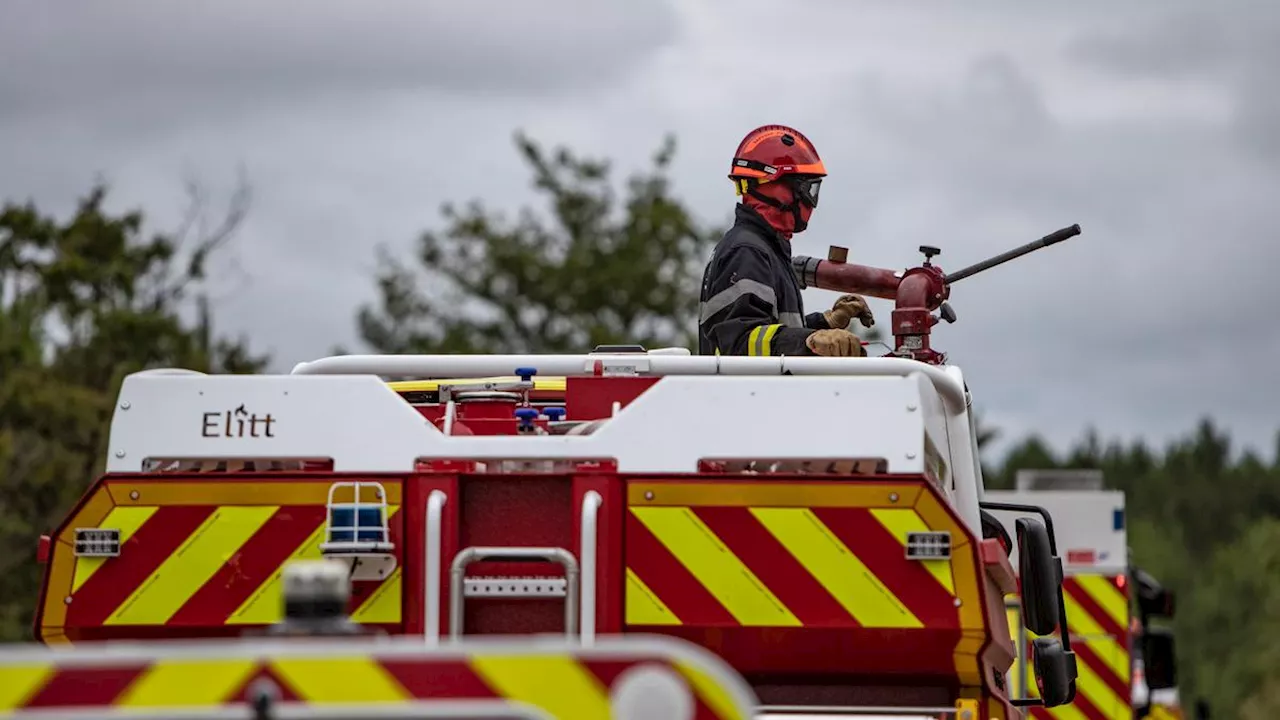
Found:
[(739, 625), (716, 596), (707, 592), (698, 578), (631, 512), (627, 512), (626, 539), (627, 568), (662, 598), (681, 623)]

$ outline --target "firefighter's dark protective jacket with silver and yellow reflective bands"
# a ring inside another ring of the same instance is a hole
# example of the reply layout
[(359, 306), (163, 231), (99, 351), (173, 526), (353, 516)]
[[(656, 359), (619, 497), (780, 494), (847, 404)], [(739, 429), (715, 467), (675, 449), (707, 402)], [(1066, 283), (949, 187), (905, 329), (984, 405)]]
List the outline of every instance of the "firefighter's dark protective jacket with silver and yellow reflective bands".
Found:
[(740, 204), (703, 272), (698, 354), (813, 355), (805, 338), (829, 325), (804, 314), (800, 290), (791, 242)]

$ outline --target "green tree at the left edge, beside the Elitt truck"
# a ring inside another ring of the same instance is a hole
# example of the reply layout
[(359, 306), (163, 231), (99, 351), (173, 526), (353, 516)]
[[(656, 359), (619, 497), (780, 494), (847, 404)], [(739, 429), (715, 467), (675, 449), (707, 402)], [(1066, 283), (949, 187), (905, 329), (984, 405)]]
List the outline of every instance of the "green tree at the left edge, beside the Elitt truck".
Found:
[(212, 228), (189, 190), (186, 222), (169, 234), (146, 236), (141, 211), (106, 211), (102, 186), (67, 219), (32, 202), (0, 209), (0, 546), (10, 548), (0, 555), (0, 639), (29, 634), (36, 538), (101, 473), (124, 375), (265, 365), (243, 342), (214, 336), (200, 295), (209, 258), (244, 215), (247, 186)]

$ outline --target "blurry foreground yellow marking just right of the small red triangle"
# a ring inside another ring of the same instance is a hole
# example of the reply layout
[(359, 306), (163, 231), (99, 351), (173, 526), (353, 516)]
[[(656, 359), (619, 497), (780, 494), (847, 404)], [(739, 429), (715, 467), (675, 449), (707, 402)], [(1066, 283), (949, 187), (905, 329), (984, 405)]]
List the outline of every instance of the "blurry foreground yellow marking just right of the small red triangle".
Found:
[(305, 702), (403, 702), (412, 696), (369, 657), (288, 657), (271, 670)]

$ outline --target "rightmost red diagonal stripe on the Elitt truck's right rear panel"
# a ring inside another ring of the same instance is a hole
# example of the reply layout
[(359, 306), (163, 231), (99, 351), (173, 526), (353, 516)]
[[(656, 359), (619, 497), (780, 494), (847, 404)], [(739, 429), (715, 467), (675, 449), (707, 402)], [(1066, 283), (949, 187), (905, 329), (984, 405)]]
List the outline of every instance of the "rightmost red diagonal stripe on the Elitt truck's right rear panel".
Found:
[(902, 543), (869, 510), (815, 507), (813, 512), (920, 623), (931, 629), (960, 628), (960, 611), (951, 593), (923, 564), (906, 559)]

